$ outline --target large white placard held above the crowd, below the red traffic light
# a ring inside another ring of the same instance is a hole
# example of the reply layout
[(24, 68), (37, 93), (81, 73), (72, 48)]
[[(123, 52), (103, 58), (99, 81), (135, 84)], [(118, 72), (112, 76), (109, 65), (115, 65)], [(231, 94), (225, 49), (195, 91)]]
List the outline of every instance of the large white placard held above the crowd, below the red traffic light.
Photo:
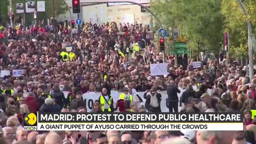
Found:
[(156, 63), (150, 64), (150, 74), (151, 76), (167, 75), (167, 64), (166, 63)]

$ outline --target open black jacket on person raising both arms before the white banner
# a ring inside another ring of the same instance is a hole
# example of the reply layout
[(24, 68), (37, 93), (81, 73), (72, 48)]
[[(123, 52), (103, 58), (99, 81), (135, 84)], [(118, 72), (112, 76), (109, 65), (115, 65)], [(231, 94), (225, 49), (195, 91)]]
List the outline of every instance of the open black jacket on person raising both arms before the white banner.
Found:
[(150, 99), (151, 99), (151, 95), (148, 94), (145, 92), (144, 95), (143, 95), (143, 98), (146, 99), (146, 103), (145, 103), (145, 107), (147, 108), (148, 111), (151, 111), (151, 112), (161, 112), (161, 98), (162, 98), (162, 95), (160, 93), (156, 93), (156, 98), (157, 98), (157, 101), (159, 103), (159, 106), (157, 108), (155, 107), (152, 107), (150, 106)]

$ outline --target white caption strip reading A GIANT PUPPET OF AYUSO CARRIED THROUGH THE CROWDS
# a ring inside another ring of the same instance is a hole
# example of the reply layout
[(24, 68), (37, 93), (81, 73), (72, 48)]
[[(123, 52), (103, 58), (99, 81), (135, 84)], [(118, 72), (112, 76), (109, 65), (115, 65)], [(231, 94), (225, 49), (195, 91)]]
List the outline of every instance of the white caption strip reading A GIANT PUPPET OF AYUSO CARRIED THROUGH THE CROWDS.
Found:
[(38, 123), (24, 126), (25, 131), (242, 131), (243, 123)]

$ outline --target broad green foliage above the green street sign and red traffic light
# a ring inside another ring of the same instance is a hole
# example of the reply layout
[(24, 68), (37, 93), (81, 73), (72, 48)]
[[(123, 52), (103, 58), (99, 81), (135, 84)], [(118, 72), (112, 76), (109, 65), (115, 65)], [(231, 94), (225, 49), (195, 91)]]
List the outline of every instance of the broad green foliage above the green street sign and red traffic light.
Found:
[(199, 51), (218, 53), (223, 42), (221, 0), (162, 0), (152, 9), (165, 27), (181, 26), (193, 55)]

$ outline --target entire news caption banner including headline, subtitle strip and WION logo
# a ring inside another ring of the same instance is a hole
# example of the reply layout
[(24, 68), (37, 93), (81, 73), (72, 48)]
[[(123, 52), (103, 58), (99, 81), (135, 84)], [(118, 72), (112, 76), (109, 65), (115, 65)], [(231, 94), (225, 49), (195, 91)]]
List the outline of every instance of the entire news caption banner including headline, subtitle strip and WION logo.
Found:
[(25, 131), (242, 131), (242, 113), (25, 113)]

